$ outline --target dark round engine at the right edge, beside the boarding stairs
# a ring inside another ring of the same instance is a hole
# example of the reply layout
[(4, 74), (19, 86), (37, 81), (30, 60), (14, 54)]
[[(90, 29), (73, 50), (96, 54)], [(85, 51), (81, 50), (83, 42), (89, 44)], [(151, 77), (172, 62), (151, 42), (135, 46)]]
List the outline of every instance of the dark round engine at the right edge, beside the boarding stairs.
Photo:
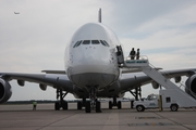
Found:
[(193, 98), (196, 98), (196, 74), (191, 76), (185, 83), (186, 83), (186, 88), (185, 88), (186, 93), (188, 93)]

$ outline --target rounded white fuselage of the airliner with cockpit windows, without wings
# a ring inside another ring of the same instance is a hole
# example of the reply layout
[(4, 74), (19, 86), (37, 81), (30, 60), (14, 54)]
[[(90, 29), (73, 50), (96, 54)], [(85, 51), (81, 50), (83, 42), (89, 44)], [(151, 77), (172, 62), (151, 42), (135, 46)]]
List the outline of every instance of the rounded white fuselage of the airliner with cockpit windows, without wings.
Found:
[(103, 89), (120, 75), (117, 58), (120, 42), (115, 34), (100, 23), (83, 25), (65, 49), (65, 70), (72, 82), (81, 88)]

